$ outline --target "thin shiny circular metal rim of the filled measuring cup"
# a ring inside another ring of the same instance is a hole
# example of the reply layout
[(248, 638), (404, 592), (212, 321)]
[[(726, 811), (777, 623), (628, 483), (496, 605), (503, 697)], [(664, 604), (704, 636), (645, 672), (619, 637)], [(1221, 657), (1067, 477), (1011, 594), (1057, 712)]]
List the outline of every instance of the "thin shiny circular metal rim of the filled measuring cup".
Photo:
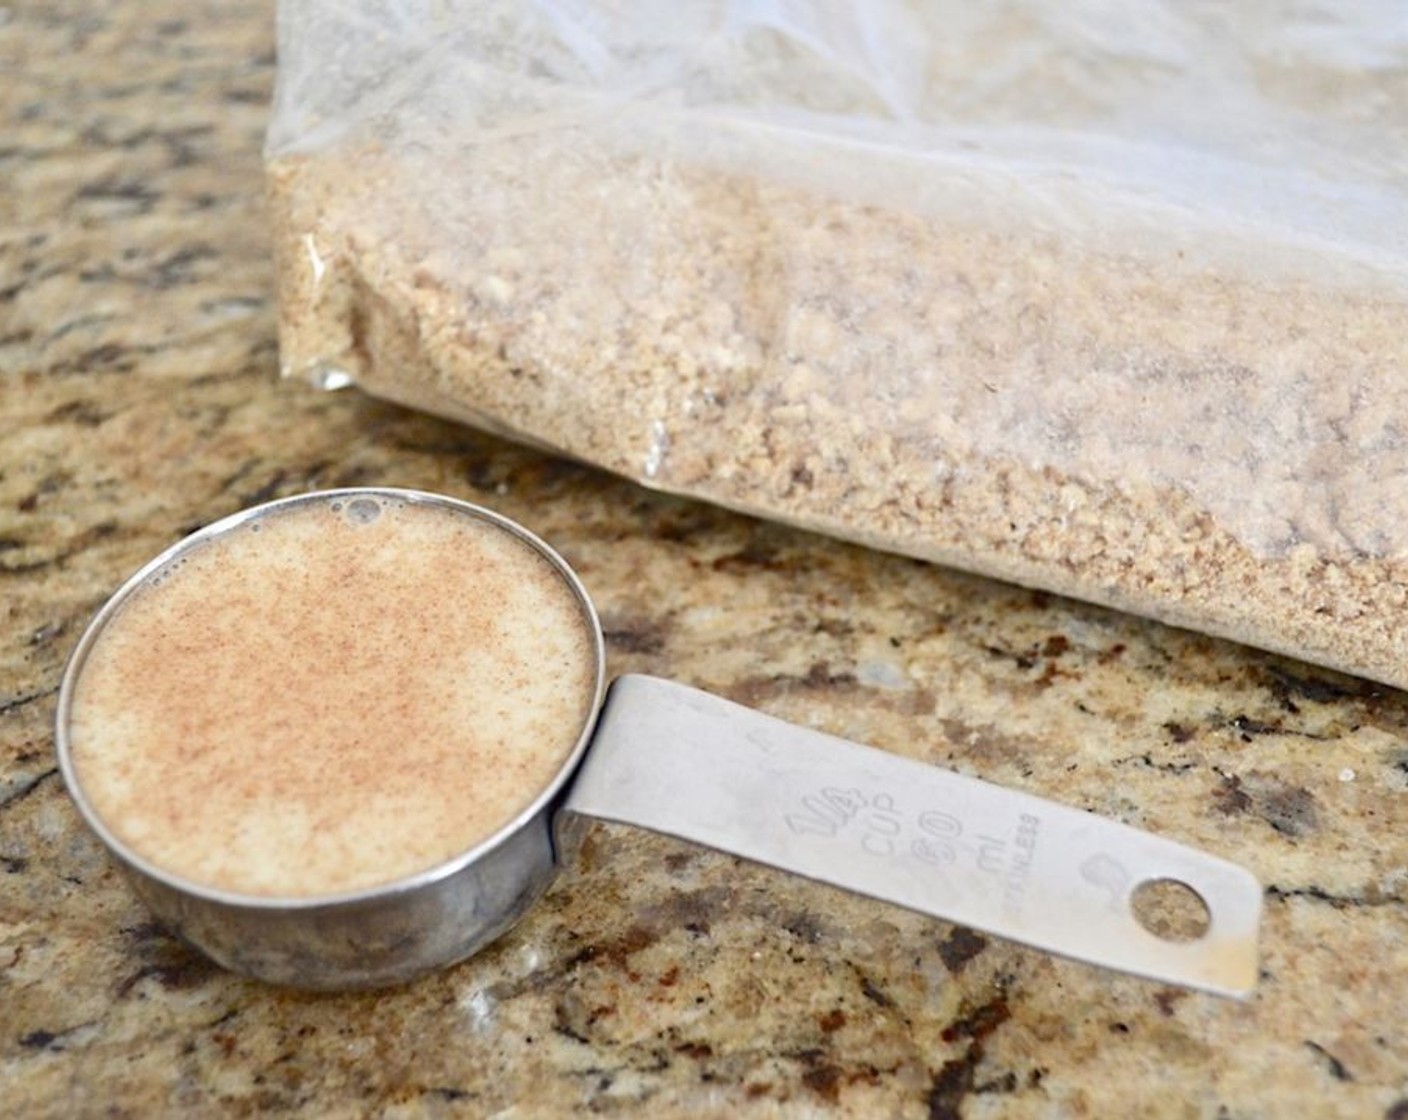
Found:
[[(97, 642), (99, 637), (122, 609), (127, 600), (142, 587), (146, 580), (149, 580), (155, 573), (163, 568), (173, 564), (186, 552), (191, 549), (201, 548), (217, 537), (222, 537), (227, 533), (238, 528), (239, 525), (256, 520), (259, 517), (266, 517), (272, 513), (286, 510), (294, 506), (313, 504), (322, 502), (335, 500), (355, 500), (358, 497), (382, 497), (393, 502), (407, 502), (414, 504), (431, 504), (442, 506), (470, 517), (476, 517), (482, 521), (489, 521), (490, 524), (513, 534), (520, 541), (527, 544), (529, 548), (535, 549), (543, 559), (546, 559), (559, 576), (572, 589), (573, 596), (577, 600), (579, 607), (591, 630), (591, 648), (596, 661), (596, 680), (591, 696), (591, 706), (587, 711), (586, 720), (583, 720), (582, 731), (577, 735), (577, 741), (573, 744), (567, 757), (563, 759), (558, 772), (553, 775), (552, 780), (538, 792), (538, 795), (529, 802), (522, 810), (520, 810), (511, 820), (494, 830), (489, 837), (474, 844), (472, 848), (455, 855), (441, 864), (418, 871), (413, 875), (404, 875), (397, 879), (391, 879), (384, 883), (377, 883), (375, 886), (360, 888), (358, 890), (345, 890), (338, 893), (327, 895), (300, 895), (300, 896), (270, 896), (270, 895), (246, 895), (235, 890), (222, 890), (208, 883), (201, 883), (194, 879), (186, 879), (179, 875), (162, 868), (159, 864), (153, 864), (144, 855), (132, 851), (132, 848), (120, 837), (117, 837), (103, 821), (101, 816), (93, 809), (89, 802), (87, 795), (83, 790), (83, 782), (77, 776), (76, 768), (73, 766), (72, 745), (69, 742), (69, 710), (73, 703), (73, 690), (83, 673), (83, 665), (89, 658), (89, 654)], [(193, 897), (206, 899), (215, 903), (224, 903), (227, 906), (238, 906), (246, 909), (259, 910), (315, 910), (320, 907), (334, 907), (356, 904), (362, 902), (369, 902), (373, 899), (384, 899), (390, 895), (408, 893), (418, 888), (431, 886), (434, 883), (442, 882), (444, 879), (455, 875), (467, 865), (482, 859), (486, 854), (497, 848), (498, 845), (508, 841), (520, 830), (528, 826), (535, 817), (548, 810), (551, 803), (562, 792), (562, 788), (570, 780), (577, 764), (582, 761), (582, 755), (587, 749), (587, 744), (591, 740), (591, 731), (596, 726), (597, 714), (601, 710), (601, 699), (605, 692), (605, 641), (601, 634), (601, 620), (597, 616), (596, 606), (591, 603), (591, 597), (587, 595), (587, 589), (583, 586), (582, 579), (572, 569), (562, 555), (552, 548), (546, 541), (538, 537), (524, 525), (518, 524), (510, 517), (504, 517), (501, 513), (486, 509), (483, 506), (476, 506), (472, 502), (465, 502), (458, 497), (449, 497), (448, 494), (431, 493), (428, 490), (414, 490), (403, 489), (396, 486), (346, 486), (331, 490), (310, 490), (301, 494), (291, 494), (289, 497), (275, 499), (272, 502), (263, 502), (258, 506), (249, 506), (248, 509), (232, 513), (227, 517), (221, 517), (217, 521), (211, 521), (208, 525), (196, 530), (194, 533), (182, 537), (179, 541), (163, 549), (159, 555), (153, 556), (151, 561), (144, 564), (137, 569), (99, 609), (97, 614), (89, 621), (87, 627), (83, 630), (77, 645), (73, 647), (73, 652), (69, 655), (68, 664), (63, 669), (63, 679), (59, 685), (59, 700), (55, 710), (55, 754), (58, 755), (59, 772), (63, 775), (63, 785), (68, 788), (69, 797), (77, 806), (79, 816), (92, 828), (99, 840), (111, 851), (118, 859), (130, 865), (135, 871), (155, 879), (165, 886), (179, 890), (184, 895)]]

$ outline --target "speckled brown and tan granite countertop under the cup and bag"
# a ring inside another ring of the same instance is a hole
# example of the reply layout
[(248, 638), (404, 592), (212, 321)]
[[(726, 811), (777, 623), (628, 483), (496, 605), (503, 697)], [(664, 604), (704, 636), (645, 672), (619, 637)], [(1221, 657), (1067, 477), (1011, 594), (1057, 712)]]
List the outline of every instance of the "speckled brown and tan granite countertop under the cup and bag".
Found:
[[(276, 376), (268, 3), (0, 7), (0, 1099), (7, 1116), (1408, 1117), (1408, 700), (646, 493)], [(237, 979), (55, 769), (63, 661), (242, 506), (417, 486), (555, 542), (649, 671), (1150, 828), (1264, 885), (1235, 1002), (622, 827), (398, 990)]]

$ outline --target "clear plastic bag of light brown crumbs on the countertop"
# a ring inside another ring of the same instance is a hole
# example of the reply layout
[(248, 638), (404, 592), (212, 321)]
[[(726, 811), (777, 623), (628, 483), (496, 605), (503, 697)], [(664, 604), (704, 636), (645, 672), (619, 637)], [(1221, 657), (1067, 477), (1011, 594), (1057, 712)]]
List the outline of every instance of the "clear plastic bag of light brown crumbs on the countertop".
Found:
[(1408, 686), (1408, 13), (300, 0), (290, 376)]

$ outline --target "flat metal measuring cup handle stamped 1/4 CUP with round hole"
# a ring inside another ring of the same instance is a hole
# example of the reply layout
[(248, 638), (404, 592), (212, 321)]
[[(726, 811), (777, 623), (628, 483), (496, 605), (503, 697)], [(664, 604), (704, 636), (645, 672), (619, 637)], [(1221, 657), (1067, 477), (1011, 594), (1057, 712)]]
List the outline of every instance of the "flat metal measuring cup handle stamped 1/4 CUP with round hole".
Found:
[[(1243, 868), (1080, 809), (622, 676), (563, 811), (635, 824), (1049, 952), (1242, 996), (1262, 889)], [(1171, 941), (1135, 889), (1174, 881), (1207, 931)]]

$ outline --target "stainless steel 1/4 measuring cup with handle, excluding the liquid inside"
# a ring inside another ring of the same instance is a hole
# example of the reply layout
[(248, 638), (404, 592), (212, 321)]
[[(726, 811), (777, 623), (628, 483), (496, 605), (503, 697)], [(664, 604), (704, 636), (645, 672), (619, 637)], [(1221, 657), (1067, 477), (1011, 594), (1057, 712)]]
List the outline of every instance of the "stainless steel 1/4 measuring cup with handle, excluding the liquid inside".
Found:
[[(452, 509), (531, 545), (580, 602), (597, 703), (531, 804), (445, 864), (384, 886), (306, 899), (180, 879), (114, 835), (84, 796), (69, 724), (89, 652), (124, 600), (186, 551), (294, 503), (359, 496)], [(394, 985), (472, 955), (546, 890), (593, 819), (676, 835), (1105, 968), (1233, 996), (1256, 982), (1262, 890), (1235, 864), (679, 683), (632, 675), (604, 689), (604, 679), (591, 600), (534, 534), (438, 494), (328, 490), (211, 524), (122, 585), (69, 659), (55, 741), (75, 803), (153, 914), (225, 968), (273, 983)], [(1208, 921), (1200, 937), (1169, 940), (1139, 921), (1136, 892), (1160, 882), (1181, 883), (1202, 900)]]

